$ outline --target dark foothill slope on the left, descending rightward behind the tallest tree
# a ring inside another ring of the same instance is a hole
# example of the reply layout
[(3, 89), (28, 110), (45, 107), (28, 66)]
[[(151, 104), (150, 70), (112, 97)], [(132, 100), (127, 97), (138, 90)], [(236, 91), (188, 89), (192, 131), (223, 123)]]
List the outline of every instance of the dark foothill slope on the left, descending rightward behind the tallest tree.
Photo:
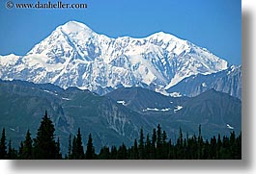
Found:
[(56, 88), (59, 87), (0, 81), (0, 128), (6, 128), (15, 147), (24, 140), (27, 129), (36, 135), (45, 110), (54, 122), (64, 152), (68, 149), (69, 136), (76, 135), (78, 128), (84, 145), (89, 133), (93, 135), (96, 150), (122, 142), (131, 145), (141, 127), (146, 132), (152, 128), (142, 115), (107, 97), (75, 87)]

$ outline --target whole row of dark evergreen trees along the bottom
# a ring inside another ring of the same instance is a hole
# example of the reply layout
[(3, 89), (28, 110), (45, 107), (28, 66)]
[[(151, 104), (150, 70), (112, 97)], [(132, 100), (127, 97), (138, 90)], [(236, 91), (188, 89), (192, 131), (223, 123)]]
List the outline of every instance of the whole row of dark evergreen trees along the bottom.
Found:
[(134, 139), (131, 147), (124, 143), (119, 146), (103, 146), (96, 154), (93, 137), (90, 134), (84, 151), (80, 129), (77, 135), (69, 137), (68, 154), (63, 156), (60, 150), (59, 138), (54, 136), (55, 128), (45, 112), (36, 138), (31, 138), (28, 130), (26, 137), (20, 142), (18, 150), (12, 147), (12, 141), (6, 142), (5, 129), (2, 131), (0, 142), (0, 159), (10, 160), (221, 160), (242, 159), (242, 134), (236, 137), (235, 132), (230, 137), (212, 137), (204, 140), (199, 126), (198, 136), (184, 137), (182, 129), (176, 142), (168, 139), (165, 131), (158, 124), (152, 136), (144, 136), (143, 129), (140, 137)]

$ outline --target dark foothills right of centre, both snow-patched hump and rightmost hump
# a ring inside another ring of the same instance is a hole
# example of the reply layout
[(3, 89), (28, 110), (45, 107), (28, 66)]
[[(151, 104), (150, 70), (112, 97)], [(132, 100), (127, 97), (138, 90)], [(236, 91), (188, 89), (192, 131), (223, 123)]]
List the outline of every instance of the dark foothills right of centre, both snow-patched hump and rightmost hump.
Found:
[(202, 125), (204, 138), (242, 131), (241, 100), (214, 89), (191, 98), (165, 96), (141, 87), (119, 88), (107, 96), (153, 124), (160, 123), (173, 139), (179, 136), (180, 127), (193, 135)]

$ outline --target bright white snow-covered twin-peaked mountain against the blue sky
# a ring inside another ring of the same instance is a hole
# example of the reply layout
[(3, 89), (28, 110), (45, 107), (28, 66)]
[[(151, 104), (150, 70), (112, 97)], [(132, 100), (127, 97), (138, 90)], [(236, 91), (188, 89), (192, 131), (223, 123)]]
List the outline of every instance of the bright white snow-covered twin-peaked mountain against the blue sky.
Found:
[(0, 78), (87, 88), (104, 94), (118, 87), (161, 93), (186, 77), (212, 74), (228, 62), (205, 48), (162, 32), (149, 37), (110, 38), (70, 21), (25, 56), (0, 56)]

